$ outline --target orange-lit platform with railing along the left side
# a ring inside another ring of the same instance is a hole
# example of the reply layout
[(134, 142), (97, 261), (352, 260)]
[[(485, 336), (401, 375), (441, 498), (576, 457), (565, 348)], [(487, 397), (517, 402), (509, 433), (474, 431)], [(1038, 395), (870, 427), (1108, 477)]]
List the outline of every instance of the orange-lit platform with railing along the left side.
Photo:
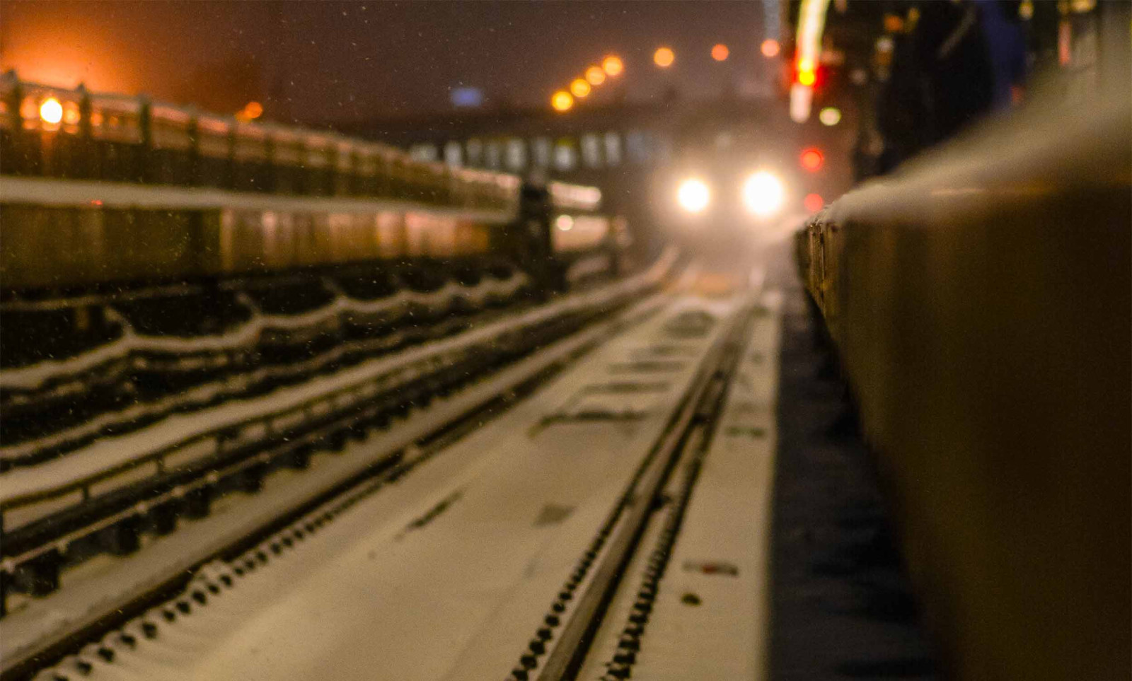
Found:
[(597, 188), (528, 191), (328, 131), (12, 71), (0, 173), (6, 300), (413, 258), (501, 258), (560, 285), (569, 262), (623, 241)]

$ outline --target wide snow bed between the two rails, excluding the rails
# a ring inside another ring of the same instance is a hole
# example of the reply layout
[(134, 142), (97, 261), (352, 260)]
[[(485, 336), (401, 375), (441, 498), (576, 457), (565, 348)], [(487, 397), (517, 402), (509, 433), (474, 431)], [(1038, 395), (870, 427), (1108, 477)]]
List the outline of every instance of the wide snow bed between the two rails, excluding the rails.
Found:
[[(668, 376), (648, 417), (632, 426), (531, 426), (595, 381), (610, 381), (609, 367), (670, 339), (664, 324), (686, 303), (597, 350), (434, 459), (479, 457), (460, 474), (395, 506), (383, 492), (367, 498), (208, 605), (163, 624), (156, 641), (120, 649), (114, 663), (95, 662), (91, 678), (506, 675), (679, 403), (696, 362)], [(702, 354), (713, 339), (714, 333), (694, 344)], [(405, 484), (423, 480), (415, 475)], [(443, 511), (414, 523), (441, 501)], [(539, 523), (548, 505), (569, 511)]]

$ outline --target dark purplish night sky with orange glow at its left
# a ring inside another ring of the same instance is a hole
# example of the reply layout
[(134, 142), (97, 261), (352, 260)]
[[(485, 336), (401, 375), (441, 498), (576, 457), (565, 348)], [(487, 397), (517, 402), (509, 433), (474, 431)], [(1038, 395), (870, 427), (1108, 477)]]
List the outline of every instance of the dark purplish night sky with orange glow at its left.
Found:
[[(626, 74), (598, 101), (671, 87), (703, 96), (762, 81), (763, 7), (741, 1), (117, 1), (0, 0), (0, 67), (24, 79), (144, 92), (234, 112), (349, 121), (452, 110), (477, 86), (488, 107), (547, 106), (607, 53)], [(717, 42), (731, 50), (711, 60)], [(652, 64), (655, 48), (676, 64)]]

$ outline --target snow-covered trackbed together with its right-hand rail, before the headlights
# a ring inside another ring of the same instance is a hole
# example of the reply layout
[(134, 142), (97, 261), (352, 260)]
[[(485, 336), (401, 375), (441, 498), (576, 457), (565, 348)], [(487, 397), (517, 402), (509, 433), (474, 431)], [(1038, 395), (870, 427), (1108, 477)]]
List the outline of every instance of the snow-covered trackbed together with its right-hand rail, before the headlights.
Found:
[(752, 316), (746, 295), (666, 299), (444, 456), (414, 454), (396, 485), (368, 483), (212, 561), (44, 678), (549, 673), (573, 656), (567, 630), (600, 621), (617, 553), (641, 543), (658, 490), (710, 429)]

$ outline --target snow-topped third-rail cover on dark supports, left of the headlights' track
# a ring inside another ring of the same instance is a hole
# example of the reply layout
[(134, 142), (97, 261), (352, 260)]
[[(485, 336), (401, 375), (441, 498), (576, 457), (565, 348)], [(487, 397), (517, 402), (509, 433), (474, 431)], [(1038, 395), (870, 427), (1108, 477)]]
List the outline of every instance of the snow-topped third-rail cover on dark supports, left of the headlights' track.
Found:
[[(2, 475), (0, 489), (5, 588), (17, 585), (33, 594), (50, 593), (58, 586), (61, 554), (71, 542), (109, 532), (109, 550), (129, 552), (137, 544), (139, 516), (156, 514), (156, 525), (171, 531), (175, 510), (164, 508), (180, 505), (190, 516), (207, 514), (208, 491), (217, 483), (235, 480), (243, 485), (237, 489), (254, 490), (268, 463), (281, 456), (293, 457), (294, 466), (303, 467), (312, 448), (327, 441), (332, 448), (341, 447), (346, 437), (340, 423), (344, 415), (380, 417), (408, 408), (418, 394), (427, 399), (436, 387), (466, 380), (469, 367), (491, 356), (500, 339), (525, 347), (540, 329), (568, 333), (577, 328), (571, 326), (572, 317), (581, 317), (582, 324), (654, 287), (674, 260), (675, 253), (668, 252), (649, 270), (603, 288), (264, 398), (175, 415), (67, 457), (10, 471)], [(524, 352), (530, 350), (533, 346)], [(265, 442), (275, 445), (265, 449)]]

